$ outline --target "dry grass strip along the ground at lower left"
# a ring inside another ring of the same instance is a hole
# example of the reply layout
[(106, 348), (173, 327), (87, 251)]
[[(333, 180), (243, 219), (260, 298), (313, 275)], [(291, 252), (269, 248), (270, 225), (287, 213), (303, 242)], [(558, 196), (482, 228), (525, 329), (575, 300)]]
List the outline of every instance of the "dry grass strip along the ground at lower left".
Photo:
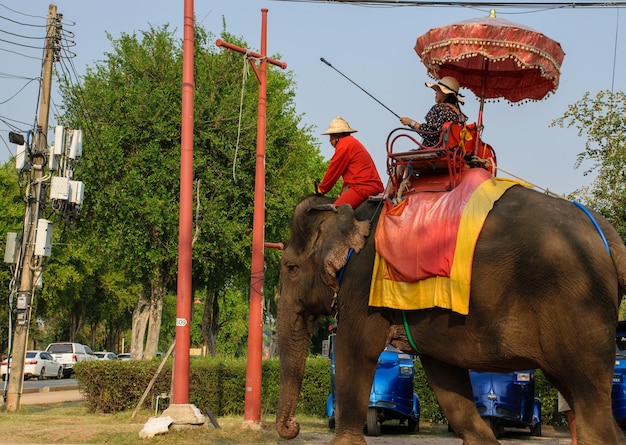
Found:
[(220, 417), (220, 429), (208, 427), (170, 429), (149, 439), (139, 439), (139, 432), (154, 413), (140, 411), (134, 419), (130, 412), (118, 414), (89, 413), (81, 402), (23, 406), (16, 413), (0, 410), (0, 431), (11, 443), (45, 444), (107, 444), (135, 445), (197, 445), (206, 444), (324, 444), (332, 436), (325, 419), (300, 417), (301, 433), (291, 441), (278, 437), (275, 419), (262, 419), (260, 428), (253, 431), (243, 427), (243, 417)]

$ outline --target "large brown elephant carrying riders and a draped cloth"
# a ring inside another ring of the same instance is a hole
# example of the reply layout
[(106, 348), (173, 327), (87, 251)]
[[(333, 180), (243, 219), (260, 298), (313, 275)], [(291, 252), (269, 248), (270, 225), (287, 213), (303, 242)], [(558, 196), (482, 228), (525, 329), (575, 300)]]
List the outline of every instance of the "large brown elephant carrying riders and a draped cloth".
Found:
[(468, 369), (537, 368), (572, 406), (579, 445), (626, 443), (611, 410), (626, 247), (606, 219), (589, 212), (608, 246), (574, 203), (514, 185), (495, 202), (478, 235), (469, 313), (461, 315), (436, 307), (369, 306), (380, 205), (366, 201), (352, 210), (333, 202), (311, 195), (297, 204), (281, 257), (276, 429), (282, 438), (300, 430), (294, 415), (315, 321), (334, 315), (336, 424), (330, 444), (366, 443), (370, 388), (387, 344), (419, 356), (464, 445), (499, 443), (476, 410)]

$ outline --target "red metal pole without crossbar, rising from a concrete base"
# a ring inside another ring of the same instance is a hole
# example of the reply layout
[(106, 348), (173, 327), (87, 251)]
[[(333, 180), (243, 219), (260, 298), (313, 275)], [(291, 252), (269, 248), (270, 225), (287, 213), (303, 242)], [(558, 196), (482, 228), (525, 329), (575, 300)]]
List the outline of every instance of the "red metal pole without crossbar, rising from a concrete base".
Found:
[(193, 0), (185, 0), (180, 154), (180, 221), (178, 226), (178, 294), (172, 403), (189, 403), (189, 328), (191, 325), (191, 241), (193, 231)]

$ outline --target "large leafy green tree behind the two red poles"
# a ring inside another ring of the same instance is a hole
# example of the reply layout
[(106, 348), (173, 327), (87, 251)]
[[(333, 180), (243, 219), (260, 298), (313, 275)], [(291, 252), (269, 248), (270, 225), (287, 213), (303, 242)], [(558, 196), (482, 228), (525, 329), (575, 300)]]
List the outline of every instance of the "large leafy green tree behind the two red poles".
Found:
[[(244, 60), (213, 41), (196, 29), (193, 276), (219, 306), (232, 283), (249, 283), (258, 85), (248, 82), (240, 101)], [(182, 45), (168, 27), (111, 42), (113, 51), (87, 69), (82, 86), (63, 86), (62, 119), (85, 129), (79, 223), (94, 283), (106, 273), (134, 289), (131, 353), (149, 358), (159, 345), (164, 297), (176, 284)], [(267, 97), (266, 238), (280, 240), (325, 163), (310, 129), (299, 127), (293, 75), (268, 69)], [(267, 257), (267, 269), (276, 270), (277, 253)], [(273, 286), (276, 273), (268, 278)], [(209, 330), (219, 330), (217, 314)]]

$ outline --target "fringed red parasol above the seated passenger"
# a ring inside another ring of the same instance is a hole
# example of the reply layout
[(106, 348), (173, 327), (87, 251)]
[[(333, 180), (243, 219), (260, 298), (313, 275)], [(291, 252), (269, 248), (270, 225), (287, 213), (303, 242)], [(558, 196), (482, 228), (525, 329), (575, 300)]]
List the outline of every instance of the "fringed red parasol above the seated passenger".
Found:
[(559, 85), (565, 53), (540, 32), (495, 17), (433, 28), (415, 51), (435, 79), (452, 76), (480, 99), (541, 100)]

